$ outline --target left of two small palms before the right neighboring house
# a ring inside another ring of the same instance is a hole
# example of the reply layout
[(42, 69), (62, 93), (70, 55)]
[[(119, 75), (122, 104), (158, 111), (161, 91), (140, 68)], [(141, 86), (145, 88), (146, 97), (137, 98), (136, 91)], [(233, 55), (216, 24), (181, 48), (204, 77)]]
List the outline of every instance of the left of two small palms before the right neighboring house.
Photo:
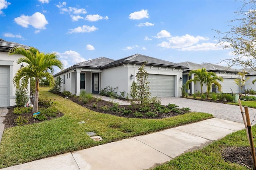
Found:
[(194, 74), (194, 79), (190, 79), (186, 82), (186, 88), (188, 89), (188, 85), (192, 82), (195, 84), (199, 81), (201, 87), (201, 94), (203, 94), (203, 85), (206, 83), (205, 77), (207, 74), (206, 68), (191, 70), (188, 75)]

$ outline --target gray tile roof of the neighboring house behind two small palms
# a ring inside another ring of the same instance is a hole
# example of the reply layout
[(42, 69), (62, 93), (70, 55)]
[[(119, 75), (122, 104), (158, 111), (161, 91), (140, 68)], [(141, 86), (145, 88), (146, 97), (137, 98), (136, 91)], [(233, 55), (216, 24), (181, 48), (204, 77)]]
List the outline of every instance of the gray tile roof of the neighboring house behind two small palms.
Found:
[(190, 70), (197, 70), (197, 69), (202, 69), (202, 68), (206, 68), (206, 71), (212, 71), (212, 72), (214, 72), (214, 71), (224, 71), (224, 72), (240, 72), (240, 71), (242, 71), (240, 69), (228, 68), (228, 67), (224, 67), (224, 66), (217, 65), (217, 64), (211, 64), (211, 63), (197, 64), (197, 63), (192, 63), (192, 62), (186, 61), (186, 62), (182, 62), (182, 63), (178, 63), (178, 64), (188, 67), (188, 69), (184, 69), (184, 72), (189, 72)]

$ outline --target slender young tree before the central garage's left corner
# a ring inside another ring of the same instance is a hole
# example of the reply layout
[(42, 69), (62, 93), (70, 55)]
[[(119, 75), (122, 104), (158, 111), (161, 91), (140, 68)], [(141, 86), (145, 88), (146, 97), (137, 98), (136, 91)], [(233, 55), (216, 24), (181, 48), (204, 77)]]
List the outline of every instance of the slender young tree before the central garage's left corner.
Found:
[(150, 87), (148, 86), (148, 72), (145, 70), (145, 66), (146, 62), (142, 64), (138, 73), (136, 74), (137, 82), (133, 82), (131, 86), (132, 97), (138, 99), (141, 106), (147, 105), (148, 100), (151, 97), (151, 93), (149, 92)]

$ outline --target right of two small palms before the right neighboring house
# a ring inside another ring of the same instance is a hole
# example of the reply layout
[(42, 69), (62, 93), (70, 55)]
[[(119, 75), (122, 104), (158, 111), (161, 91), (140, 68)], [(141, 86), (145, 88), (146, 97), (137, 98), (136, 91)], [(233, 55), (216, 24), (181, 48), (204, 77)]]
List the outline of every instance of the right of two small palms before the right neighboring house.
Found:
[(220, 82), (223, 82), (223, 78), (220, 76), (217, 76), (214, 72), (207, 72), (205, 77), (205, 85), (207, 87), (206, 90), (206, 99), (208, 97), (208, 94), (210, 93), (212, 89), (212, 84), (215, 84), (218, 87), (218, 91), (221, 91), (221, 84)]

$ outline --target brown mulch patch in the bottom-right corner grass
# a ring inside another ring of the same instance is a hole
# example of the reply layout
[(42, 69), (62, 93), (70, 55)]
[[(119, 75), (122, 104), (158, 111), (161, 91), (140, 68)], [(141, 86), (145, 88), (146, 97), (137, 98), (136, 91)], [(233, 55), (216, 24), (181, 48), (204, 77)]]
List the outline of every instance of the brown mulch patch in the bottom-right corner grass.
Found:
[(225, 161), (253, 168), (252, 152), (250, 147), (228, 147), (222, 150)]

